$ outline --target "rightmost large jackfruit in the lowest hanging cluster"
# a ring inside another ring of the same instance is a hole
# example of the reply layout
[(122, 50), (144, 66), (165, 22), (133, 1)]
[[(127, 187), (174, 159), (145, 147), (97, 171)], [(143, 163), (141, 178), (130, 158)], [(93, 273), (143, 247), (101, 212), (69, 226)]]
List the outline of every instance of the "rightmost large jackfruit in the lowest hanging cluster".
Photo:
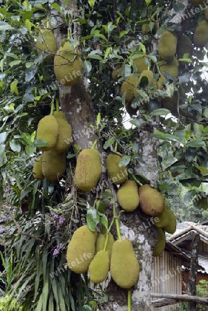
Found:
[(120, 288), (131, 288), (138, 281), (140, 265), (128, 238), (115, 241), (112, 248), (111, 277)]

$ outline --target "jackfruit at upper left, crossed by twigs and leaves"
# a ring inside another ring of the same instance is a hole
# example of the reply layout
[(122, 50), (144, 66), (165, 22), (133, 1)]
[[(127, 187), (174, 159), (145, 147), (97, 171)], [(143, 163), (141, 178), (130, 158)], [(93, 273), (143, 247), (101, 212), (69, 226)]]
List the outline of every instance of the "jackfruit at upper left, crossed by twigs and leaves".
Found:
[(53, 53), (57, 51), (57, 40), (50, 29), (40, 29), (37, 38), (37, 53), (47, 52), (48, 56), (44, 60), (49, 61), (54, 58)]

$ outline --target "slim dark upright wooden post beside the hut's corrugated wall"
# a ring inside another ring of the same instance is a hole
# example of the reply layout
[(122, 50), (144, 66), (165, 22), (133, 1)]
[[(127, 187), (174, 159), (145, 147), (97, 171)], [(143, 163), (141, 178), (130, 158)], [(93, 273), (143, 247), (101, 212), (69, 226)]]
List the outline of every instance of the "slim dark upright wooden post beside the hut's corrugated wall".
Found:
[[(189, 270), (189, 283), (187, 286), (187, 294), (195, 296), (196, 295), (196, 277), (198, 271), (198, 251), (200, 245), (200, 235), (194, 234), (192, 239), (192, 251), (191, 251), (191, 265)], [(189, 301), (188, 310), (196, 310), (196, 301)]]

